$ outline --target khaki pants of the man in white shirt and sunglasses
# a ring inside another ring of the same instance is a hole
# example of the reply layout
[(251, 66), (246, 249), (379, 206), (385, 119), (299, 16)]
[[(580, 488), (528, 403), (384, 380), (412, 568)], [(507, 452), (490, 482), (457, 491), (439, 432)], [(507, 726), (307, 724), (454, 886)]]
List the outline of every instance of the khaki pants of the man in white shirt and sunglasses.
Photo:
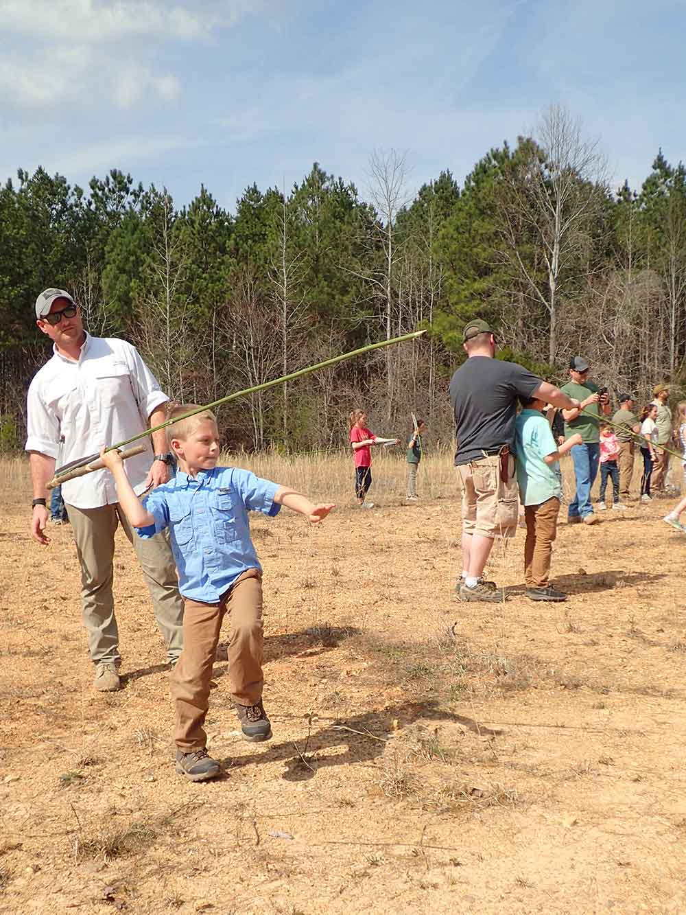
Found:
[(114, 532), (121, 523), (133, 545), (150, 592), (155, 619), (162, 630), (168, 660), (176, 660), (183, 646), (183, 601), (178, 593), (177, 570), (166, 534), (144, 540), (132, 530), (119, 505), (97, 509), (67, 506), (81, 566), (83, 623), (94, 663), (119, 663), (119, 632), (114, 616)]

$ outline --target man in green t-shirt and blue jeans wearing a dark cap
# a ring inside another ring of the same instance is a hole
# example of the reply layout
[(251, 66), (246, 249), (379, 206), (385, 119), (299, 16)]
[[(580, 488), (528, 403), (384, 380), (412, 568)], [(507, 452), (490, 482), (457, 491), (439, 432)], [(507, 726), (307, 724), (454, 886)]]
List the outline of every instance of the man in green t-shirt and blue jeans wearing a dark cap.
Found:
[(591, 488), (595, 482), (600, 462), (600, 416), (610, 412), (607, 393), (600, 393), (593, 382), (588, 381), (591, 367), (583, 356), (573, 356), (569, 363), (571, 381), (560, 389), (568, 397), (578, 400), (580, 405), (573, 410), (563, 410), (564, 437), (576, 433), (582, 437), (581, 445), (572, 448), (576, 492), (567, 509), (567, 522), (595, 524), (597, 518), (591, 504)]

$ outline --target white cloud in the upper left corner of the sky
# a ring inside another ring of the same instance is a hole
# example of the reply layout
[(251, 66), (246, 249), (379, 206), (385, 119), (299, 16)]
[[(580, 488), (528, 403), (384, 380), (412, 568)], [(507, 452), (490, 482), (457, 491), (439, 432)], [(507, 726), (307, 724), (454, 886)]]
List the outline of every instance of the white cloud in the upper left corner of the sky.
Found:
[(68, 102), (84, 111), (107, 102), (129, 109), (150, 94), (175, 102), (179, 78), (155, 69), (152, 52), (209, 38), (254, 5), (259, 0), (0, 0), (0, 35), (15, 48), (0, 58), (0, 115)]

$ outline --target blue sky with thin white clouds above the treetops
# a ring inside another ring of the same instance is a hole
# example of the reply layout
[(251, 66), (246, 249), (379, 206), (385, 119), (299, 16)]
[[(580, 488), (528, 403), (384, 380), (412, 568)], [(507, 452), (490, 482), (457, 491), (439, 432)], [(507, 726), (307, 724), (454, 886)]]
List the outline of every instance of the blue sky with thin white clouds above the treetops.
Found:
[(686, 158), (684, 34), (686, 0), (0, 0), (0, 178), (117, 167), (234, 210), (318, 161), (367, 197), (375, 148), (462, 183), (562, 104), (637, 184)]

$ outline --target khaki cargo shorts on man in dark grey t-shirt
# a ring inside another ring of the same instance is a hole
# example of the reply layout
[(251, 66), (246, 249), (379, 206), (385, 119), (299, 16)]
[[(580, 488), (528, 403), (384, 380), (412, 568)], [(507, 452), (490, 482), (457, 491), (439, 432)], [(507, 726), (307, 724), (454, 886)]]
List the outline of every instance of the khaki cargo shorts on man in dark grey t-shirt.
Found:
[(462, 529), (482, 537), (513, 537), (520, 509), (514, 457), (508, 455), (508, 481), (500, 479), (500, 458), (489, 455), (461, 464)]

